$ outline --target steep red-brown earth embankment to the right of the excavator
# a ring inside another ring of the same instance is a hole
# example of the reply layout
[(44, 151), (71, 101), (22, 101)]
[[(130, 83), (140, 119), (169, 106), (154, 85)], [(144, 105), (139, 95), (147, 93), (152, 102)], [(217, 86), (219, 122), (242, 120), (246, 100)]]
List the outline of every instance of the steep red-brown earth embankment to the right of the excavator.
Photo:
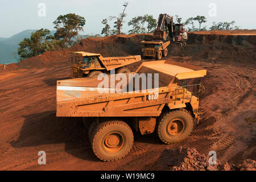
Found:
[(187, 46), (171, 45), (169, 50), (170, 55), (192, 56), (208, 63), (247, 65), (256, 60), (256, 35), (189, 33)]

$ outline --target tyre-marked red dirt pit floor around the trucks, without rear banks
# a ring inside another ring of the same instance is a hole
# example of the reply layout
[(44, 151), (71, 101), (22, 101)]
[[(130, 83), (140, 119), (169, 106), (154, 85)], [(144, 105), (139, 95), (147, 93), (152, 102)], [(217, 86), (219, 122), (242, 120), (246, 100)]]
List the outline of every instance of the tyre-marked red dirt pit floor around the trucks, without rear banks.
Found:
[[(167, 147), (179, 146), (195, 147), (205, 155), (215, 150), (222, 162), (256, 160), (255, 64), (241, 67), (236, 63), (167, 57), (171, 59), (208, 71), (202, 80), (205, 93), (200, 100), (200, 124), (187, 140), (171, 146), (160, 142), (155, 134), (135, 133), (131, 152), (110, 163), (94, 156), (81, 118), (55, 117), (56, 80), (69, 76), (67, 59), (40, 68), (1, 73), (0, 169), (162, 170), (166, 166), (159, 167), (158, 161), (163, 152)], [(46, 151), (47, 165), (40, 166), (38, 152), (42, 150)]]

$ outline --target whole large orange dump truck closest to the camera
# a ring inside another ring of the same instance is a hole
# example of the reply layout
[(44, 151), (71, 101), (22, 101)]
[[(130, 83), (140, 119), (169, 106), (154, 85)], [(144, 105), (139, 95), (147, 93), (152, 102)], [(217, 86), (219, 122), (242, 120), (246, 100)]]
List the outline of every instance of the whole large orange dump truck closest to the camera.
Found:
[[(59, 80), (56, 115), (83, 117), (85, 125), (90, 126), (94, 154), (104, 161), (121, 159), (133, 146), (131, 127), (142, 135), (155, 131), (166, 144), (188, 137), (199, 121), (203, 86), (185, 82), (206, 73), (205, 69), (175, 61), (147, 61), (136, 73), (121, 75), (127, 82), (118, 93), (118, 79), (113, 82), (109, 78), (113, 75), (106, 76), (104, 88), (96, 77)], [(150, 81), (154, 86), (148, 87)]]

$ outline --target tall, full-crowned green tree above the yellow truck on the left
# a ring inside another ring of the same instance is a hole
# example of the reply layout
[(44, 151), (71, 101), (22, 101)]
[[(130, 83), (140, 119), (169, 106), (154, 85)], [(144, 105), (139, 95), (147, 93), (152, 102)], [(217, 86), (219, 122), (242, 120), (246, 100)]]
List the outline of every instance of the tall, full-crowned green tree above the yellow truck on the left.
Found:
[(85, 18), (76, 14), (60, 15), (53, 22), (55, 24), (56, 39), (64, 39), (66, 47), (72, 46), (72, 38), (76, 36), (79, 43), (79, 31), (84, 30)]

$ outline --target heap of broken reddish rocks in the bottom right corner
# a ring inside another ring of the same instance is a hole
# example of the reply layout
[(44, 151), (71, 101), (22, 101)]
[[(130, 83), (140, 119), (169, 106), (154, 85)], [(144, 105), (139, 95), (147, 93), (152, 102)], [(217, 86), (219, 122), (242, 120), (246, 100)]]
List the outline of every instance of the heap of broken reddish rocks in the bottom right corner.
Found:
[(255, 160), (247, 159), (242, 164), (235, 165), (221, 163), (217, 159), (216, 164), (209, 164), (210, 156), (200, 154), (196, 148), (182, 148), (177, 150), (169, 149), (164, 152), (159, 160), (160, 163), (166, 164), (171, 171), (235, 171), (235, 170), (256, 170)]

